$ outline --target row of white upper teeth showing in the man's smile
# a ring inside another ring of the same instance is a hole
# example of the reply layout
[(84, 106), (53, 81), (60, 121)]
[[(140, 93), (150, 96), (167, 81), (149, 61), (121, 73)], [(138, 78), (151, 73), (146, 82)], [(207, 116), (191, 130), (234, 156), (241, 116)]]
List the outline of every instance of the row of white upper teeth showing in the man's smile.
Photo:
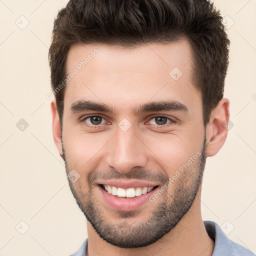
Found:
[(134, 196), (140, 196), (142, 194), (146, 194), (150, 192), (153, 189), (153, 186), (144, 186), (144, 187), (129, 187), (127, 189), (124, 189), (122, 187), (116, 187), (111, 185), (103, 185), (105, 190), (112, 195), (117, 195), (118, 197), (134, 197)]

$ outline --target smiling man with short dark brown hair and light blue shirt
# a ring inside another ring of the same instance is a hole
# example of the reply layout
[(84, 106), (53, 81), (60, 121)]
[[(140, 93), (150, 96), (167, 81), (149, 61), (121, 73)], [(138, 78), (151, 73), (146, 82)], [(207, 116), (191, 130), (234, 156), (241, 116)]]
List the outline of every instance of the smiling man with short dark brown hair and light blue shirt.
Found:
[(225, 142), (229, 40), (206, 0), (70, 0), (49, 49), (53, 137), (88, 238), (72, 255), (250, 256), (200, 192)]

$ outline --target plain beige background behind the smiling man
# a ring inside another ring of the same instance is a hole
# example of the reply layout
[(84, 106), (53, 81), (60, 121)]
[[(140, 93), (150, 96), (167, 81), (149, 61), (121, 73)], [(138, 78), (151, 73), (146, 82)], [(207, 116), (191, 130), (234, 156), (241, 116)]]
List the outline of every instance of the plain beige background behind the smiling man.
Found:
[[(228, 237), (255, 253), (256, 0), (214, 2), (228, 16), (231, 46), (224, 96), (234, 126), (219, 153), (207, 158), (202, 215), (224, 223), (223, 230), (233, 225)], [(53, 20), (66, 3), (0, 0), (1, 256), (68, 255), (87, 237), (86, 219), (53, 142), (46, 98)], [(20, 29), (26, 20), (29, 24)], [(29, 124), (23, 131), (16, 127), (21, 118)], [(21, 220), (29, 226), (24, 234), (19, 233), (25, 230)]]

